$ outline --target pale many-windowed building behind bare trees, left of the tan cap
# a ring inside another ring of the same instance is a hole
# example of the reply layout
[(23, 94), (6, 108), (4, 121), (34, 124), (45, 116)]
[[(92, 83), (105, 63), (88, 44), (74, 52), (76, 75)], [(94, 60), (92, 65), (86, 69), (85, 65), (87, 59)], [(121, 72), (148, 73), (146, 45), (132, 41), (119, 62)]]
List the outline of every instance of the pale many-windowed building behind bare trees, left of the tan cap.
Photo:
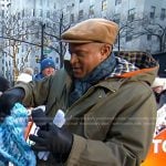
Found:
[[(11, 59), (11, 66), (2, 63), (1, 73), (9, 79), (9, 69), (14, 81), (19, 72), (27, 66), (33, 68), (34, 73), (39, 73), (41, 54), (42, 59), (52, 58), (59, 69), (60, 58), (54, 52), (55, 49), (52, 49), (53, 37), (50, 35), (54, 30), (55, 0), (11, 0), (10, 4), (7, 2), (6, 4), (8, 8), (3, 8), (1, 13), (3, 49), (0, 53), (2, 62), (9, 63)], [(9, 9), (10, 15), (7, 14)]]

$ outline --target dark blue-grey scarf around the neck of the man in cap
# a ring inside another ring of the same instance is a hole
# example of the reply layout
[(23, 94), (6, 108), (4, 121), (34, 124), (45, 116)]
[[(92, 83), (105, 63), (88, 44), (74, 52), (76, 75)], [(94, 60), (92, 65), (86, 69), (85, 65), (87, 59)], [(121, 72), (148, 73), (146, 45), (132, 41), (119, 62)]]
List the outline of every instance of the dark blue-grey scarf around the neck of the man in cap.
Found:
[(87, 76), (74, 80), (74, 90), (70, 94), (70, 105), (79, 100), (92, 85), (108, 77), (116, 65), (114, 54), (97, 65)]

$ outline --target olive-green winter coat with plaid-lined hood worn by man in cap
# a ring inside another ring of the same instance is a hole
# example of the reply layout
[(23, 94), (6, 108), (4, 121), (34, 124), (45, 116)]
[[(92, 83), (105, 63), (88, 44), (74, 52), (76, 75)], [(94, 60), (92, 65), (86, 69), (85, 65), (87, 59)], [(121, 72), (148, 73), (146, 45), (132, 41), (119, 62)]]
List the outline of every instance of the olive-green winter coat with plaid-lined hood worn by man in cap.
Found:
[[(102, 80), (70, 107), (69, 70), (60, 70), (41, 82), (17, 85), (25, 91), (27, 106), (45, 104), (50, 117), (59, 108), (65, 112), (65, 127), (74, 135), (66, 166), (139, 166), (146, 157), (156, 120), (156, 102), (149, 85), (158, 64), (144, 52), (117, 55), (139, 70)], [(49, 160), (39, 165), (56, 164), (50, 155)]]

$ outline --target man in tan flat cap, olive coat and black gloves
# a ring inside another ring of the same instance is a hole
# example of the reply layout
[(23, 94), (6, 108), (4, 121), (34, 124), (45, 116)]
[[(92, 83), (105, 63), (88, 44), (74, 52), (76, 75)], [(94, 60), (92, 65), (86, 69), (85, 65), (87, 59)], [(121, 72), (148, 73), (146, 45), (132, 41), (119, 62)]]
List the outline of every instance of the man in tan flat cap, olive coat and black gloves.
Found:
[(18, 84), (0, 97), (1, 116), (15, 102), (46, 105), (53, 118), (65, 113), (62, 128), (40, 128), (35, 152), (50, 152), (38, 165), (138, 166), (152, 143), (156, 103), (151, 89), (158, 64), (142, 52), (113, 53), (116, 23), (89, 19), (62, 34), (71, 60), (55, 75)]

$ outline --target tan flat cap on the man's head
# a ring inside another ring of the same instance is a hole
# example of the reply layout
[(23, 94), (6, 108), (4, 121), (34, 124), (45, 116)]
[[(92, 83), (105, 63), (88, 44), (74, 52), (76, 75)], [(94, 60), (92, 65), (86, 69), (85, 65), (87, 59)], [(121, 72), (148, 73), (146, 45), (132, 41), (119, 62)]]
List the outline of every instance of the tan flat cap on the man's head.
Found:
[(101, 42), (114, 44), (118, 25), (106, 19), (89, 19), (75, 24), (62, 33), (62, 41), (68, 43)]

